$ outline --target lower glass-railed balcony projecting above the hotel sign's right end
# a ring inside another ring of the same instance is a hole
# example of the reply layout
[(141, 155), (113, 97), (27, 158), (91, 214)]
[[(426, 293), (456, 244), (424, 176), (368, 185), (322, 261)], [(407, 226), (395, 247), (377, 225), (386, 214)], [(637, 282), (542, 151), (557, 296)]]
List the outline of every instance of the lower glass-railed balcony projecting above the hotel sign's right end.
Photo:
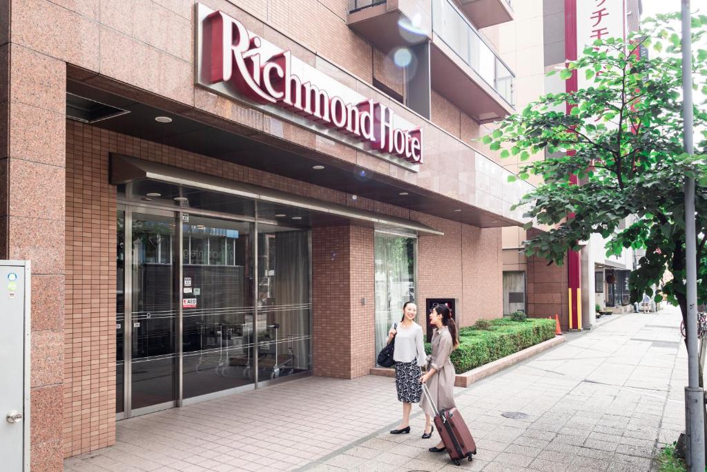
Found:
[[(392, 54), (407, 48), (415, 56), (421, 51), (428, 56), (418, 58), (429, 64), (417, 67), (418, 84), (421, 71), (428, 71), (428, 88), (479, 122), (513, 113), (515, 75), (452, 0), (350, 1), (349, 27), (380, 50)], [(423, 93), (419, 86), (411, 91)]]

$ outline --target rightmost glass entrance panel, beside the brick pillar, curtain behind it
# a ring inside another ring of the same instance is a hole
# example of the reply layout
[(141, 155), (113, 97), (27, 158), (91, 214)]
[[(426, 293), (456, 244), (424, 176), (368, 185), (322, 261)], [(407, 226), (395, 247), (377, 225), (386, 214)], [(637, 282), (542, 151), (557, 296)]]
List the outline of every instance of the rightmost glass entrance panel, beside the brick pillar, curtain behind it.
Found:
[(309, 231), (258, 224), (258, 379), (309, 372)]

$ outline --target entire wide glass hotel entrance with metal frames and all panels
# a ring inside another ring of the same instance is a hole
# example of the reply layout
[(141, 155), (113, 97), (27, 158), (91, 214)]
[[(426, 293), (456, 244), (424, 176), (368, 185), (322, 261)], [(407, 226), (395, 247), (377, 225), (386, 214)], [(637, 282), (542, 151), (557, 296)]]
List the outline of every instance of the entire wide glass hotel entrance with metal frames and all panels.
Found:
[(210, 213), (119, 205), (117, 419), (311, 372), (308, 229)]

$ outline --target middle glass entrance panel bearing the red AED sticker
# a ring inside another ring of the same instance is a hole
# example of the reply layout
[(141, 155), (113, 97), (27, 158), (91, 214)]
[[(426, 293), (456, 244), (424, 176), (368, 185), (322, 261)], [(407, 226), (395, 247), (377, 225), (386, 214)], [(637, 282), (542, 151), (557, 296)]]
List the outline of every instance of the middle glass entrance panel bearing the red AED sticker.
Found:
[(184, 398), (253, 384), (252, 223), (182, 224)]

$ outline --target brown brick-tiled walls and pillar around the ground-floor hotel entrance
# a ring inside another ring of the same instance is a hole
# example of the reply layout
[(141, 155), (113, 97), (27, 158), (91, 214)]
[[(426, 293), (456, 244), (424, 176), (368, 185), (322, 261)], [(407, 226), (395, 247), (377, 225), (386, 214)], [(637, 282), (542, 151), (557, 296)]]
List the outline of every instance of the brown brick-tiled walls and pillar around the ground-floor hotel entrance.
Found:
[[(66, 121), (66, 302), (64, 322), (64, 454), (115, 441), (116, 189), (110, 153), (287, 189), (340, 202), (345, 195), (105, 129)], [(420, 221), (445, 236), (418, 241), (419, 300), (459, 300), (460, 323), (501, 313), (500, 229), (376, 205), (364, 208)], [(374, 233), (346, 224), (312, 229), (315, 375), (368, 374), (375, 356)], [(440, 251), (444, 248), (444, 251)], [(422, 321), (420, 314), (420, 321)]]

